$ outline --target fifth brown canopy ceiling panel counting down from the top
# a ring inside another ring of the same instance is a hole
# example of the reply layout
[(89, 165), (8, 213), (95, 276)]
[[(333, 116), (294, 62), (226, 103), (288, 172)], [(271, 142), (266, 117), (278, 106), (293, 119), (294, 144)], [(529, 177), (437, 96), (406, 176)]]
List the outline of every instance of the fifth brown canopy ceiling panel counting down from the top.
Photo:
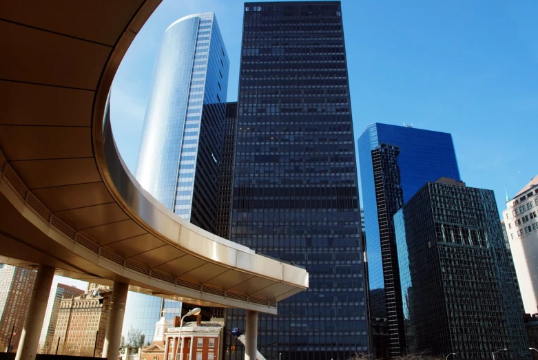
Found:
[(101, 181), (94, 158), (14, 161), (10, 165), (30, 189)]

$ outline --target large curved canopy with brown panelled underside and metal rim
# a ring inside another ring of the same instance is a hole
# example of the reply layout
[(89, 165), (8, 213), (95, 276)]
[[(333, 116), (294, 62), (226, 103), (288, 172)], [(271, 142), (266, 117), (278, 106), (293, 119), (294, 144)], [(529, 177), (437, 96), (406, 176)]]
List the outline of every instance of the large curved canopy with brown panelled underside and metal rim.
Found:
[(205, 306), (276, 313), (303, 268), (203, 231), (143, 190), (107, 96), (159, 1), (0, 5), (0, 262)]

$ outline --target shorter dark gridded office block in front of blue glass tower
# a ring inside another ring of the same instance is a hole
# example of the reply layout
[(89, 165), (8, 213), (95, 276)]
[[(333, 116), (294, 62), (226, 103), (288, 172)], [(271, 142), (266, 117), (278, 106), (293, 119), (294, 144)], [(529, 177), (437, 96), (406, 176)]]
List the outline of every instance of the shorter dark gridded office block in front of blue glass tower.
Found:
[(493, 191), (440, 178), (394, 215), (408, 353), (530, 358), (498, 214)]

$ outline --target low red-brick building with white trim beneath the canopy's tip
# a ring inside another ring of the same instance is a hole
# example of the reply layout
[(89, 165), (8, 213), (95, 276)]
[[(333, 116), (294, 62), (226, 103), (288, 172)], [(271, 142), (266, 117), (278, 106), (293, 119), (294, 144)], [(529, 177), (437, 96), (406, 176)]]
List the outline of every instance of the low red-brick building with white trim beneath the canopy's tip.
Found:
[[(155, 336), (152, 345), (141, 350), (141, 360), (220, 360), (223, 358), (222, 341), (224, 319), (213, 318), (211, 321), (201, 321), (198, 315), (196, 321), (183, 324), (181, 340), (183, 352), (180, 351), (179, 317), (176, 324), (169, 324), (162, 317), (155, 326)], [(180, 352), (183, 356), (180, 357)]]

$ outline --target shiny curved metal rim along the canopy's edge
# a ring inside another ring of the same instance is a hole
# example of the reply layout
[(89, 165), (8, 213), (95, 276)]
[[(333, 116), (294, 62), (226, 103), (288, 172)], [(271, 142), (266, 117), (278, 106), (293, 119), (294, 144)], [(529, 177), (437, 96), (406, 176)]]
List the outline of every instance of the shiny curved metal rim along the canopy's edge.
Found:
[[(222, 266), (306, 289), (307, 271), (257, 255), (246, 246), (230, 242), (182, 220), (143, 190), (119, 155), (109, 116), (109, 96), (118, 67), (141, 26), (161, 0), (147, 0), (116, 43), (105, 65), (92, 109), (92, 140), (96, 166), (110, 194), (137, 224), (164, 242), (196, 257)], [(206, 241), (203, 241), (206, 240)]]

